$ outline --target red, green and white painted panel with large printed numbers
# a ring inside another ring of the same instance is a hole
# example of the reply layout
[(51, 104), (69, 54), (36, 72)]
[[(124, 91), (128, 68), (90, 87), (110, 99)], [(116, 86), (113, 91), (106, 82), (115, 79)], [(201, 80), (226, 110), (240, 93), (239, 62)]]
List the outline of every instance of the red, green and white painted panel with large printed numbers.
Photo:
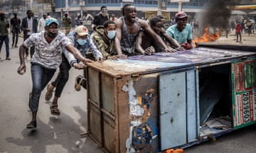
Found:
[(232, 64), (234, 128), (256, 122), (255, 81), (256, 60)]

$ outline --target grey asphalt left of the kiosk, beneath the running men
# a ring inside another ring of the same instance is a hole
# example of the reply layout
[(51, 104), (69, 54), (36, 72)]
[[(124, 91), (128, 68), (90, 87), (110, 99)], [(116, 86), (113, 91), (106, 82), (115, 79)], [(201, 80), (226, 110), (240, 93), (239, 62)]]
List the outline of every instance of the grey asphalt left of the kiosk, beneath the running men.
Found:
[[(11, 44), (11, 35), (10, 35)], [(23, 42), (19, 38), (18, 45)], [(11, 46), (11, 45), (10, 45)], [(28, 109), (28, 93), (32, 81), (30, 63), (22, 76), (16, 71), (19, 66), (18, 48), (10, 47), (11, 60), (5, 60), (5, 45), (1, 48), (0, 60), (0, 153), (68, 153), (99, 152), (89, 137), (80, 137), (87, 128), (86, 90), (75, 91), (75, 76), (82, 71), (70, 69), (70, 79), (59, 98), (60, 116), (50, 114), (50, 102), (41, 94), (36, 130), (26, 129), (31, 120)], [(56, 77), (55, 73), (55, 77)], [(54, 78), (55, 78), (54, 77)], [(80, 145), (75, 145), (80, 141)]]

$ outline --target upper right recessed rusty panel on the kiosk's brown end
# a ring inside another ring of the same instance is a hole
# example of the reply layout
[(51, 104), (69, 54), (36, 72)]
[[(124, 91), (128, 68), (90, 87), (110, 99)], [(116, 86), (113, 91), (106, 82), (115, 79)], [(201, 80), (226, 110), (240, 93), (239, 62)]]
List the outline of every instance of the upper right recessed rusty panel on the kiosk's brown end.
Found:
[(102, 108), (104, 108), (108, 113), (115, 115), (114, 108), (114, 79), (113, 77), (102, 74)]

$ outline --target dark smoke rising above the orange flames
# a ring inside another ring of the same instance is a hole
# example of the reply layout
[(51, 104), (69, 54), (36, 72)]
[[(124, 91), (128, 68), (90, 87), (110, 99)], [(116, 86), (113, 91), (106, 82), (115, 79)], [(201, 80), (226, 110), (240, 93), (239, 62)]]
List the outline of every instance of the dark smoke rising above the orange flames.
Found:
[(206, 26), (227, 30), (230, 26), (231, 9), (238, 5), (240, 0), (209, 0), (203, 11), (196, 14), (199, 28)]

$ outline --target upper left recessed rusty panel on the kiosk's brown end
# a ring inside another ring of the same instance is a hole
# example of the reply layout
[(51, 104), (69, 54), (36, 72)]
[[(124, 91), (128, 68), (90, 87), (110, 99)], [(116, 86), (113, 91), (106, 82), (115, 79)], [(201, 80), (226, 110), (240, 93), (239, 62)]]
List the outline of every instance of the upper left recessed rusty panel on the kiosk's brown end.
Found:
[(96, 69), (88, 69), (89, 98), (100, 106), (100, 76)]

